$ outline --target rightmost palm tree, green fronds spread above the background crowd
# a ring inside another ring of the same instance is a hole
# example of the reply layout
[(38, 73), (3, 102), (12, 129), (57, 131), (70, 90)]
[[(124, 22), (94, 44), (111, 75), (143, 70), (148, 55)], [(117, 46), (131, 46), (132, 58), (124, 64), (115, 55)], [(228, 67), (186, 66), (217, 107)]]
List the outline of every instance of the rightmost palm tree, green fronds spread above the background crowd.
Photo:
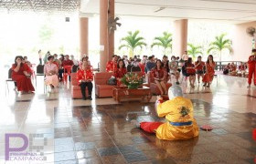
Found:
[(223, 38), (224, 36), (226, 36), (226, 34), (221, 34), (220, 36), (216, 36), (215, 41), (211, 42), (208, 48), (208, 54), (212, 50), (219, 51), (219, 61), (221, 61), (221, 54), (223, 49), (229, 49), (229, 53), (232, 51), (231, 40), (224, 39)]

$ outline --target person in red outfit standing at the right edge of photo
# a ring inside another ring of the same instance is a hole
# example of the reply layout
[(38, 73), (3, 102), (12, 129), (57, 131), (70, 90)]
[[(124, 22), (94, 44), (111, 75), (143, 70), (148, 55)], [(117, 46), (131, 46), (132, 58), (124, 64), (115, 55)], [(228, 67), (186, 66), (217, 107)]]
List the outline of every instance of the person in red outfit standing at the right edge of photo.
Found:
[(252, 49), (252, 54), (248, 60), (249, 74), (248, 74), (248, 87), (251, 87), (251, 78), (254, 78), (254, 86), (256, 86), (256, 49)]

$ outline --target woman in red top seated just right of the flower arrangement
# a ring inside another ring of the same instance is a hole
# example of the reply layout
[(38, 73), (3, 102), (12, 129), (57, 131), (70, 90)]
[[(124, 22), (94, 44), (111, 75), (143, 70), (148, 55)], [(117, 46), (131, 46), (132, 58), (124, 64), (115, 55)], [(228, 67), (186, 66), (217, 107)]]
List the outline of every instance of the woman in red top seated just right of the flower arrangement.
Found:
[(165, 86), (167, 72), (163, 67), (163, 63), (160, 59), (156, 60), (155, 67), (152, 69), (152, 75), (155, 79), (155, 84), (159, 88), (161, 95), (167, 94), (167, 88)]

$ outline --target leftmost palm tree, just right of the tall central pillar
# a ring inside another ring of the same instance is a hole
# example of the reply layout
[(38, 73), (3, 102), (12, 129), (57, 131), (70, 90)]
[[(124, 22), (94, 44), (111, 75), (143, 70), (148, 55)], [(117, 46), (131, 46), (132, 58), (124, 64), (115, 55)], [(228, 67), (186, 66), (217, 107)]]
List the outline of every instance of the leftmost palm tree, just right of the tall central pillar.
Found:
[(121, 39), (121, 42), (124, 41), (123, 45), (119, 46), (119, 49), (122, 49), (123, 47), (127, 47), (132, 52), (132, 56), (134, 53), (134, 49), (139, 46), (143, 48), (143, 46), (146, 46), (144, 43), (144, 37), (138, 36), (140, 33), (139, 30), (136, 30), (134, 33), (132, 31), (128, 31), (128, 36), (125, 36)]

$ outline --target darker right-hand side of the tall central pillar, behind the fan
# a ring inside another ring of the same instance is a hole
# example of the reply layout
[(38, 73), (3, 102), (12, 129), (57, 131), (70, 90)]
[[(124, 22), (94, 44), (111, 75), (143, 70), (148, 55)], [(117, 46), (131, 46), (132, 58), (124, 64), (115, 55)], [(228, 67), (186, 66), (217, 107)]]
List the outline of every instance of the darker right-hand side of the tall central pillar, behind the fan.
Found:
[[(109, 15), (108, 17), (114, 18), (114, 0), (109, 0)], [(112, 59), (112, 55), (114, 54), (114, 31), (109, 31), (109, 54), (108, 60)]]

